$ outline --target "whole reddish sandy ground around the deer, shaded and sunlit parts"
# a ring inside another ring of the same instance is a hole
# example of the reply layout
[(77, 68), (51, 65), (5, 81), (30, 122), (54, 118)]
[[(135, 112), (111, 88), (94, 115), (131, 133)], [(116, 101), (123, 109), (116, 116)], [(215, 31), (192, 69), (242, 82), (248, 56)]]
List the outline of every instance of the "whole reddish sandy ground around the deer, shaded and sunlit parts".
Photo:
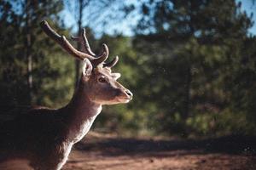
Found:
[[(256, 170), (255, 149), (256, 138), (252, 137), (182, 140), (89, 133), (75, 145), (63, 169)], [(30, 169), (22, 162), (9, 161), (4, 169)]]

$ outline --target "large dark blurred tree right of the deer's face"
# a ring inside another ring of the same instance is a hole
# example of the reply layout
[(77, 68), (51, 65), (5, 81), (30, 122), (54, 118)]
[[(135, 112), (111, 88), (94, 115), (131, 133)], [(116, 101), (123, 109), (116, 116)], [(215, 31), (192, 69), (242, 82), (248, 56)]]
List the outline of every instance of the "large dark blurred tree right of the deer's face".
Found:
[(226, 68), (234, 66), (230, 61), (238, 59), (252, 26), (241, 3), (149, 1), (141, 11), (134, 44), (148, 55), (146, 65), (153, 70), (143, 88), (148, 87), (153, 96), (148, 101), (159, 108), (160, 131), (214, 131), (218, 123), (213, 117), (230, 107), (224, 82), (234, 72)]

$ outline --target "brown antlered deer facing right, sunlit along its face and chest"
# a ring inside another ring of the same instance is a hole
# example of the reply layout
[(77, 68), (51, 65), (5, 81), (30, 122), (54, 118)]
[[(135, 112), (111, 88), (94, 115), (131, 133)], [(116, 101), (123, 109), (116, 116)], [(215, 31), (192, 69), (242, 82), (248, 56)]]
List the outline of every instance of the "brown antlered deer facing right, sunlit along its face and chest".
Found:
[(70, 102), (60, 109), (47, 107), (25, 108), (17, 116), (0, 124), (0, 162), (10, 157), (26, 158), (36, 170), (60, 170), (73, 148), (89, 132), (102, 105), (125, 104), (132, 93), (113, 73), (116, 56), (110, 62), (108, 46), (102, 44), (102, 53), (91, 51), (85, 30), (73, 41), (80, 42), (81, 50), (73, 48), (67, 38), (54, 31), (46, 20), (40, 26), (48, 37), (57, 42), (68, 54), (83, 61), (82, 73)]

